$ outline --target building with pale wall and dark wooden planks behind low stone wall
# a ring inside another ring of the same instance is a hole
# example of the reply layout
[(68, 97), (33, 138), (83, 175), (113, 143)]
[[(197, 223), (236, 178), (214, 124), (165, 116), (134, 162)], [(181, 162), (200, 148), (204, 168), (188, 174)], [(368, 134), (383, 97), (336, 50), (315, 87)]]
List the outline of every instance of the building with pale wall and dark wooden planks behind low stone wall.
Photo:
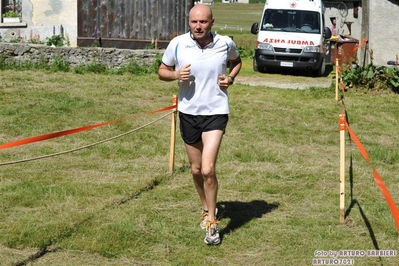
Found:
[[(0, 36), (44, 40), (63, 35), (70, 46), (160, 48), (188, 30), (194, 0), (0, 0)], [(5, 12), (21, 15), (6, 22)], [(158, 44), (157, 42), (157, 44)]]

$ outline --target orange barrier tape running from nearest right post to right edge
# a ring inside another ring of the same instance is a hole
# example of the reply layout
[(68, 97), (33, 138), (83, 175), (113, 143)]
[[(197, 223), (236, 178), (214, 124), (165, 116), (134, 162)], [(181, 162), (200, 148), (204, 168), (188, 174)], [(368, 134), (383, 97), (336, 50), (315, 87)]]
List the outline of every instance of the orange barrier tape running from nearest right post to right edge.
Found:
[[(355, 142), (355, 144), (356, 144), (357, 148), (359, 149), (360, 153), (362, 154), (363, 158), (369, 164), (371, 164), (370, 158), (366, 152), (366, 149), (363, 147), (362, 143), (359, 141), (359, 139), (357, 138), (357, 136), (355, 135), (353, 130), (349, 127), (348, 122), (345, 121), (345, 123), (346, 123), (346, 127), (348, 128), (348, 132), (349, 132), (351, 138)], [(392, 213), (392, 217), (395, 221), (396, 228), (399, 231), (399, 209), (397, 208), (396, 203), (393, 200), (391, 194), (389, 193), (389, 190), (386, 187), (386, 185), (384, 184), (384, 181), (382, 180), (381, 176), (378, 174), (377, 170), (375, 170), (375, 168), (373, 166), (371, 166), (371, 167), (373, 168), (374, 181), (377, 184), (378, 188), (381, 190), (381, 193), (384, 196), (385, 200), (387, 201), (389, 209), (391, 210), (391, 213)]]

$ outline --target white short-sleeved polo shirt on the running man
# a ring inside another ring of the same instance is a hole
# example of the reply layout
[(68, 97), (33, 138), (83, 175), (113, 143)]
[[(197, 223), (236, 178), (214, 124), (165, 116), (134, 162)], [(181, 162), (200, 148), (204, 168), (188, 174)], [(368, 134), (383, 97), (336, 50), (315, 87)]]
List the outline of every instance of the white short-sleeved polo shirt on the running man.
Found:
[(226, 75), (227, 62), (238, 57), (237, 47), (228, 36), (213, 34), (213, 41), (204, 48), (190, 32), (172, 39), (162, 63), (176, 70), (191, 64), (190, 80), (178, 82), (178, 110), (191, 115), (228, 114), (227, 90), (219, 88), (218, 77)]

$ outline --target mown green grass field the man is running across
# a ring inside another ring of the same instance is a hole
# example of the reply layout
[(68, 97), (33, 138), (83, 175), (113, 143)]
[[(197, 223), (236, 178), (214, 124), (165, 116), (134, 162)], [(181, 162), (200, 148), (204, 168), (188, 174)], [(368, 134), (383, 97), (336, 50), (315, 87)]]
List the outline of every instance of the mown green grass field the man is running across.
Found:
[[(250, 58), (244, 66), (253, 75)], [(179, 130), (170, 175), (171, 114), (150, 114), (176, 93), (155, 74), (0, 70), (0, 145), (123, 119), (0, 150), (0, 265), (312, 265), (330, 251), (398, 251), (371, 167), (398, 204), (398, 95), (350, 90), (336, 102), (332, 87), (232, 86), (217, 168), (222, 243), (207, 246)], [(341, 224), (343, 107), (371, 165), (346, 135)], [(399, 265), (398, 255), (339, 258)]]

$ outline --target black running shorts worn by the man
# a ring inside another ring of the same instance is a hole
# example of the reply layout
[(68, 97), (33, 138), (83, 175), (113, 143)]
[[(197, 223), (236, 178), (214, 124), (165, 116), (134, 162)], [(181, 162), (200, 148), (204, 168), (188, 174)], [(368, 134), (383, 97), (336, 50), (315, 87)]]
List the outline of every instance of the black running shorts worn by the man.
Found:
[(188, 115), (179, 112), (180, 134), (187, 144), (201, 141), (202, 132), (226, 130), (229, 115)]

